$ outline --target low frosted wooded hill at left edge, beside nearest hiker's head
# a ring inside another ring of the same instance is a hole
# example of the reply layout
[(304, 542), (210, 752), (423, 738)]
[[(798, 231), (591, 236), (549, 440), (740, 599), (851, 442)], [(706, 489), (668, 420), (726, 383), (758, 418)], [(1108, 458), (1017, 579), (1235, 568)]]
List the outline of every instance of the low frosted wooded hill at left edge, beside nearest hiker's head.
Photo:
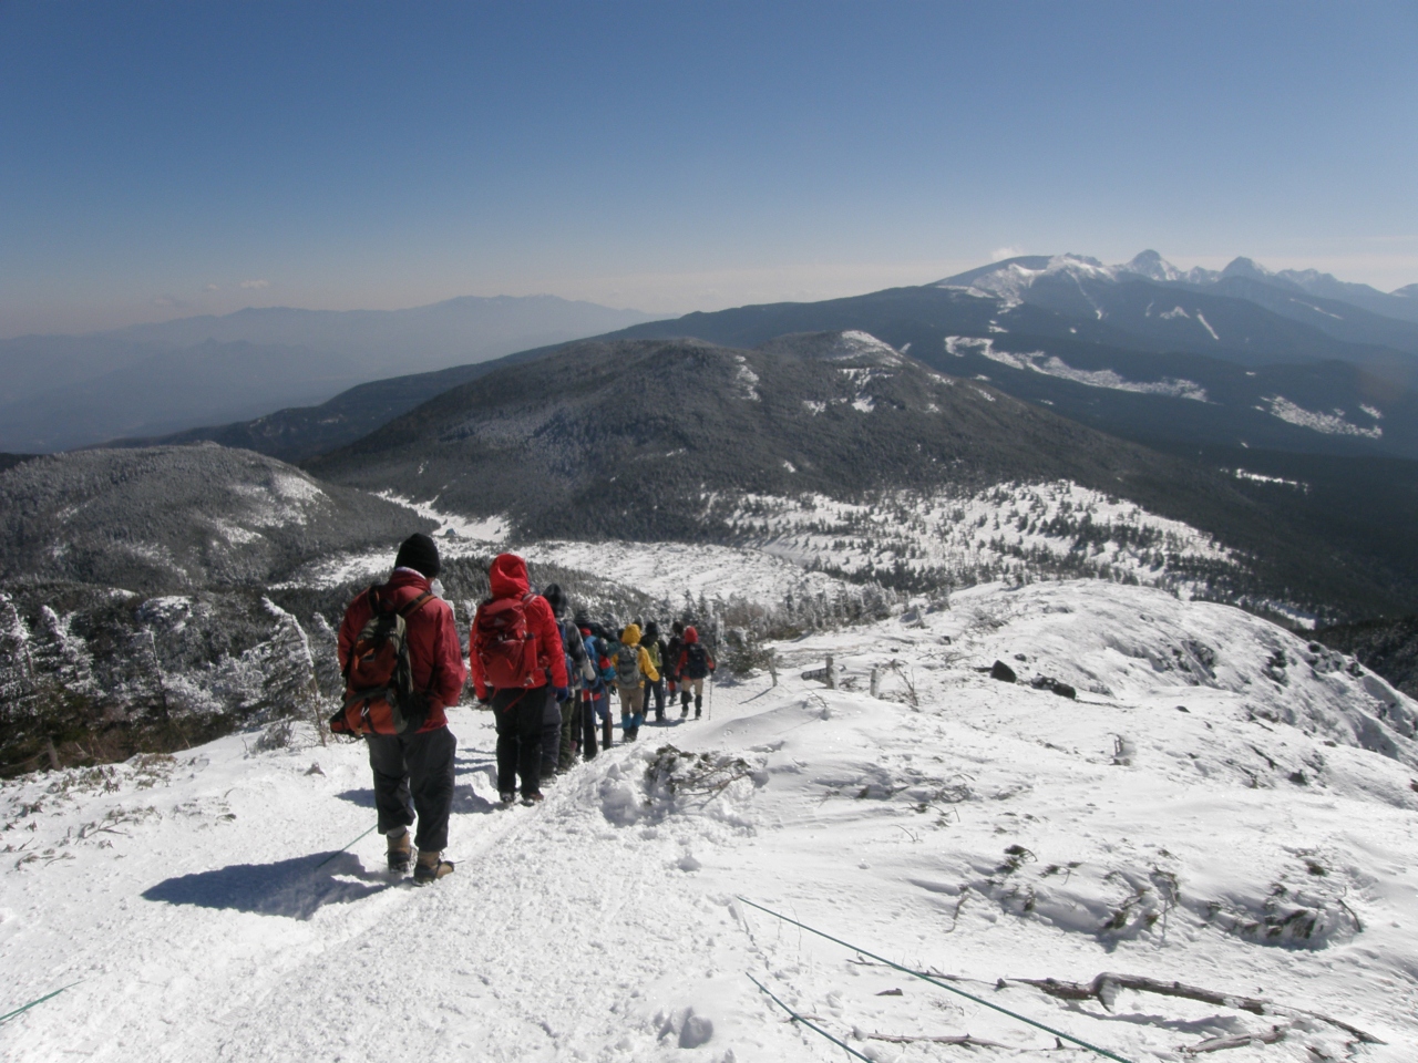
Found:
[(129, 591), (261, 584), (330, 550), (428, 527), (383, 499), (250, 451), (82, 451), (0, 473), (0, 580)]

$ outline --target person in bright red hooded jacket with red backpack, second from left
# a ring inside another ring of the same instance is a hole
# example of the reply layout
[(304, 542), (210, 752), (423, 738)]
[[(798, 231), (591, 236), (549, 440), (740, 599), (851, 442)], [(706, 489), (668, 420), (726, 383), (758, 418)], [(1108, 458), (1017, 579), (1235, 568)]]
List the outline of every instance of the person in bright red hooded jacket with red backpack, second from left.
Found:
[(547, 699), (556, 707), (571, 696), (562, 629), (546, 598), (532, 594), (520, 557), (498, 554), (488, 580), (492, 597), (478, 605), (468, 636), (472, 686), (479, 702), (492, 700), (502, 804), (516, 799), (518, 775), (523, 804), (533, 804), (542, 799), (542, 719), (550, 712)]

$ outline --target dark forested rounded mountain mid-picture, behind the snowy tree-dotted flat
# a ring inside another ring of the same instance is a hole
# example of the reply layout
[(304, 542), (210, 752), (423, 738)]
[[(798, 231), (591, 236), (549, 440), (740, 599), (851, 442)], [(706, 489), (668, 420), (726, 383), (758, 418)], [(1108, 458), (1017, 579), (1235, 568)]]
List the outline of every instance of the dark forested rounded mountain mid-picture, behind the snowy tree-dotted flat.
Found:
[[(306, 466), (467, 519), (510, 520), (516, 541), (733, 544), (744, 496), (859, 503), (878, 492), (1069, 480), (1244, 551), (1255, 566), (1248, 594), (1341, 609), (1378, 595), (1385, 605), (1373, 608), (1401, 608), (1387, 604), (1391, 584), (1303, 564), (1327, 546), (1269, 503), (1242, 502), (1232, 478), (1160, 461), (864, 336), (780, 336), (757, 350), (574, 344), (455, 388)], [(634, 417), (623, 415), (627, 387), (638, 395)]]

